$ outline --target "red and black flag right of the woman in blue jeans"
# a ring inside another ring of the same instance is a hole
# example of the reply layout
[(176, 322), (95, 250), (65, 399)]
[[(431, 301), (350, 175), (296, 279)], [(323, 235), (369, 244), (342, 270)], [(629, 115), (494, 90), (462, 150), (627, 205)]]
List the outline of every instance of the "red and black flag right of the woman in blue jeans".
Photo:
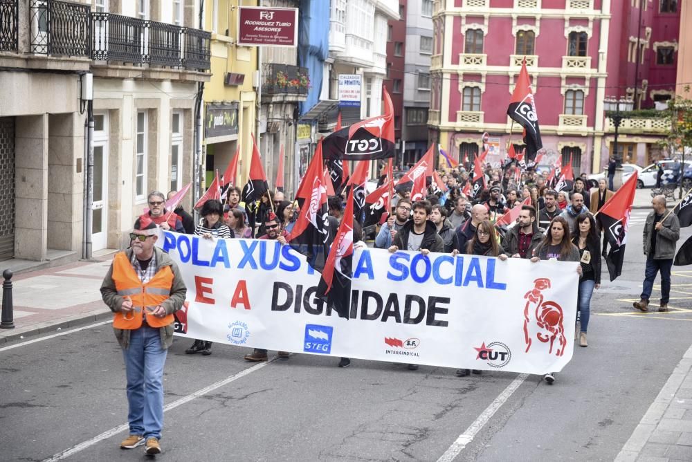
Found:
[(608, 239), (610, 244), (610, 251), (605, 257), (605, 264), (608, 265), (611, 281), (614, 281), (622, 272), (628, 222), (630, 221), (632, 201), (635, 200), (636, 189), (637, 172), (632, 174), (625, 184), (599, 210), (603, 232), (605, 232), (605, 238)]

